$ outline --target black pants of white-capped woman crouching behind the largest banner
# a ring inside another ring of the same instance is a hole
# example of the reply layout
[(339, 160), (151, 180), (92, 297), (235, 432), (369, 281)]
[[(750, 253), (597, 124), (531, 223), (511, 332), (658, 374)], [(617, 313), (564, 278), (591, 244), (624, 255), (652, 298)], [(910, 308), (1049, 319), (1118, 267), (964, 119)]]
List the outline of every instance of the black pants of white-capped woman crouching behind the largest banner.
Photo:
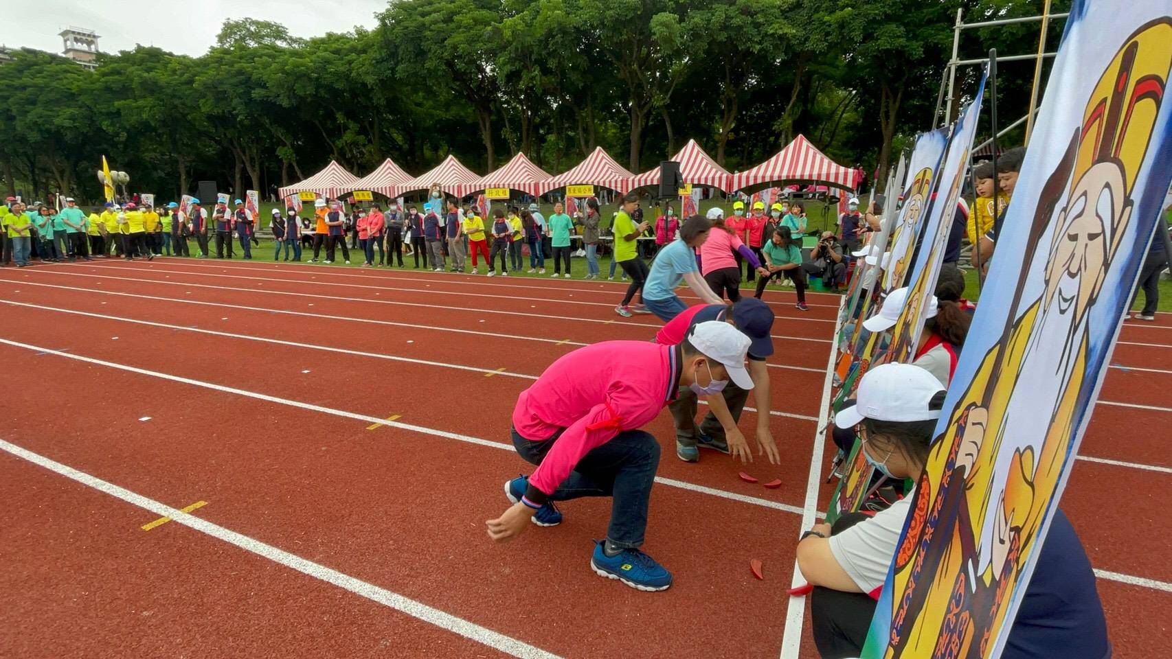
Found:
[[(847, 513), (831, 527), (831, 535), (840, 534), (866, 520), (863, 513)], [(843, 592), (815, 586), (810, 595), (810, 618), (813, 643), (823, 659), (858, 657), (871, 627), (878, 603), (865, 592)]]

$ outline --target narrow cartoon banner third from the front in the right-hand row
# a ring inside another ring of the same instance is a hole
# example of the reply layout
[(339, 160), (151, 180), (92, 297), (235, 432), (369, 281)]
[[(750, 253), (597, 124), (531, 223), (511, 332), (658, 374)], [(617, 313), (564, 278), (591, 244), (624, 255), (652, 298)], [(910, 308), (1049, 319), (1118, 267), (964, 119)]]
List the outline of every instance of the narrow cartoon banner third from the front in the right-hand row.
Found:
[[(915, 238), (922, 227), (921, 219), (927, 210), (928, 200), (936, 178), (936, 170), (948, 145), (948, 126), (920, 133), (915, 139), (907, 176), (911, 179), (904, 187), (904, 206), (899, 210), (899, 220), (891, 235), (891, 263), (884, 268), (883, 291), (904, 286), (904, 275), (912, 262), (915, 249)], [(891, 200), (887, 201), (891, 204)]]

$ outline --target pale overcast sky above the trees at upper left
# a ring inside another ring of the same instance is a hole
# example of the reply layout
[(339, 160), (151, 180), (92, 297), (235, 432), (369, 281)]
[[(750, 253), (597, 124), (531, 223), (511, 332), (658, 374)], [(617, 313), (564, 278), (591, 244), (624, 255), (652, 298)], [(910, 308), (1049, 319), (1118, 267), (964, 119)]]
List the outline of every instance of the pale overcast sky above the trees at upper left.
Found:
[(294, 36), (374, 27), (375, 12), (387, 0), (0, 0), (9, 48), (61, 53), (60, 32), (67, 27), (93, 29), (98, 48), (129, 50), (135, 43), (172, 53), (202, 55), (216, 41), (225, 19), (277, 21)]

